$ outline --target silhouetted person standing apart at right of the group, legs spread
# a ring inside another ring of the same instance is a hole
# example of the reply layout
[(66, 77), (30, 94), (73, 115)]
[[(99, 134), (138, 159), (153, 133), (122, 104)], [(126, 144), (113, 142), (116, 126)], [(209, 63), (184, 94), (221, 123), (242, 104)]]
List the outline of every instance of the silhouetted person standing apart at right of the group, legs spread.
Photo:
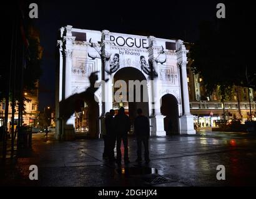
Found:
[(137, 109), (137, 118), (134, 121), (134, 132), (137, 138), (137, 160), (136, 162), (141, 162), (141, 147), (142, 142), (144, 144), (144, 157), (145, 162), (149, 163), (149, 119), (142, 115), (142, 109)]

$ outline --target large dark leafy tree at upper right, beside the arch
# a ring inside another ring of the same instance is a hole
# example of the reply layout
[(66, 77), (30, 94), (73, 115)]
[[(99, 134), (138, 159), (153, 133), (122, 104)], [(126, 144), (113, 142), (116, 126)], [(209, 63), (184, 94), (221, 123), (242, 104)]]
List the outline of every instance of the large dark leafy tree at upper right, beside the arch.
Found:
[(255, 2), (224, 1), (224, 4), (226, 18), (202, 22), (200, 39), (189, 54), (192, 70), (204, 78), (209, 94), (217, 85), (221, 85), (220, 93), (229, 93), (233, 85), (255, 88)]

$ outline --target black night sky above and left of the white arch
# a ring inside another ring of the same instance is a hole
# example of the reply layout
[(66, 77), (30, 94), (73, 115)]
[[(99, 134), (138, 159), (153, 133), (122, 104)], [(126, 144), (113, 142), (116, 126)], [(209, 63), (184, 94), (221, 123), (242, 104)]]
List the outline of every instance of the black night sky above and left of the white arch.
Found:
[(216, 19), (220, 1), (41, 1), (39, 19), (43, 74), (39, 81), (39, 110), (55, 104), (57, 32), (65, 25), (79, 29), (109, 30), (126, 34), (154, 35), (195, 42), (199, 24)]

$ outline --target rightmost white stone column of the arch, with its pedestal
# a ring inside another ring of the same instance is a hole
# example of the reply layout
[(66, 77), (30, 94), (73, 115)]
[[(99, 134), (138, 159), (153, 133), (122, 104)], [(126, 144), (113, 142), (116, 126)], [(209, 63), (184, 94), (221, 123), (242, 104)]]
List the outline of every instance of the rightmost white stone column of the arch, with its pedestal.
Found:
[(187, 86), (187, 50), (182, 40), (177, 43), (177, 65), (181, 70), (183, 115), (180, 117), (180, 134), (195, 134), (194, 119), (190, 114), (189, 89)]

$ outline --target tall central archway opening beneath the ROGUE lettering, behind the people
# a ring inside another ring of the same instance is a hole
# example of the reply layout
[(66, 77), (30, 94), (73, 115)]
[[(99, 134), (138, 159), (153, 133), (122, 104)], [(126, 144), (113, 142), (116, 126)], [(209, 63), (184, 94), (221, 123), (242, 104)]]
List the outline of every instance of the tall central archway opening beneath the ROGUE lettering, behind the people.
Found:
[[(145, 78), (144, 74), (142, 72), (140, 72), (140, 70), (138, 70), (137, 68), (133, 68), (133, 67), (125, 67), (125, 68), (121, 68), (120, 70), (118, 70), (113, 78), (113, 85), (115, 85), (117, 80), (122, 80), (125, 81), (126, 85), (127, 85), (127, 93), (126, 93), (126, 99), (122, 101), (121, 103), (118, 103), (115, 101), (115, 99), (113, 99), (113, 109), (117, 110), (119, 109), (121, 106), (123, 106), (126, 110), (126, 114), (129, 115), (130, 118), (130, 122), (132, 124), (132, 129), (133, 130), (133, 122), (135, 117), (137, 116), (136, 110), (138, 108), (141, 108), (143, 111), (143, 114), (147, 117), (149, 117), (149, 102), (148, 100), (143, 101), (143, 95), (148, 95), (148, 90), (147, 90), (147, 85), (144, 86), (140, 86), (140, 100), (136, 102), (136, 88), (135, 86), (133, 86), (133, 91), (134, 91), (134, 95), (133, 95), (133, 99), (132, 101), (129, 100), (129, 80), (139, 80), (140, 82), (142, 82), (143, 80), (147, 81), (147, 79)], [(138, 88), (137, 88), (138, 89)], [(119, 88), (113, 88), (114, 93), (119, 90)], [(130, 90), (131, 91), (131, 90)], [(146, 93), (146, 94), (145, 94)], [(131, 94), (131, 93), (130, 93)], [(124, 93), (122, 93), (122, 95), (124, 95)], [(121, 96), (123, 97), (123, 96)], [(139, 98), (139, 97), (138, 97)], [(137, 98), (137, 99), (138, 99)]]

